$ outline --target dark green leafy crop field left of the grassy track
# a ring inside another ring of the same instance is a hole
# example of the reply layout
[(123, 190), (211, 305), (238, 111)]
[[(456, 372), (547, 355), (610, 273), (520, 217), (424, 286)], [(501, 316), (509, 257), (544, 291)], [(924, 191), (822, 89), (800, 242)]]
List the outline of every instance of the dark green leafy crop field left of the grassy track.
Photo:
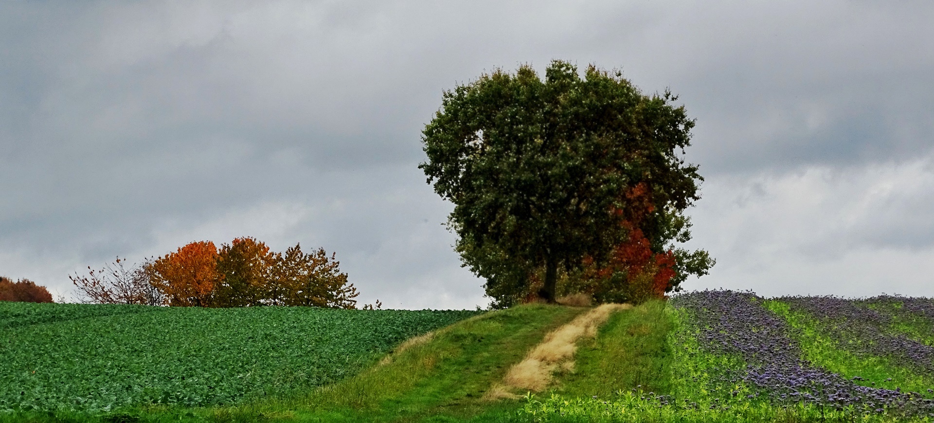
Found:
[(3, 302), (0, 412), (285, 395), (341, 380), (406, 338), (477, 313)]

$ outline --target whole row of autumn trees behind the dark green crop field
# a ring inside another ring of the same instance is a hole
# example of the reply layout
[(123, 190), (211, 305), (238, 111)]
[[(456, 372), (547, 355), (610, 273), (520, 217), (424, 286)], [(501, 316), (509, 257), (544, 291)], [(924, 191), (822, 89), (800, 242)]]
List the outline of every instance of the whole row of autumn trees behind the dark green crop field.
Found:
[(192, 242), (142, 263), (123, 259), (87, 275), (69, 276), (86, 303), (199, 307), (306, 305), (356, 308), (359, 295), (340, 262), (324, 248), (300, 245), (279, 253), (255, 238), (236, 238), (219, 248)]

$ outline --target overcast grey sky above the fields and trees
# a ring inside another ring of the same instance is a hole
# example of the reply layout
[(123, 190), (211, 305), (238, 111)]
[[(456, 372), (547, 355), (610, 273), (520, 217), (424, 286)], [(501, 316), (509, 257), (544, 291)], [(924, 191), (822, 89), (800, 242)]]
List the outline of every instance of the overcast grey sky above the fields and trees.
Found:
[(442, 93), (555, 59), (697, 120), (686, 289), (934, 296), (934, 3), (0, 2), (0, 275), (191, 241), (335, 252), (358, 300), (486, 306), (417, 169)]

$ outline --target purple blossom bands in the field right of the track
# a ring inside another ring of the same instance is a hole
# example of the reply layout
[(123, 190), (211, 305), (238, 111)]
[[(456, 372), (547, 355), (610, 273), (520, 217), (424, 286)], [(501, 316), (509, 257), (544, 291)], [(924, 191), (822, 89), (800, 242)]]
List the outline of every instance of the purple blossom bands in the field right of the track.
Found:
[[(872, 301), (902, 302), (899, 313), (934, 317), (934, 303), (927, 299), (879, 297), (844, 300), (835, 297), (786, 297), (777, 299), (792, 310), (805, 312), (823, 325), (823, 331), (840, 348), (857, 356), (883, 356), (918, 374), (934, 374), (934, 348), (889, 330), (892, 315), (870, 308)], [(900, 388), (862, 386), (859, 375), (844, 377), (804, 360), (794, 329), (752, 292), (706, 290), (677, 295), (673, 306), (689, 317), (686, 324), (697, 332), (701, 349), (742, 358), (743, 368), (712, 369), (719, 386), (744, 384), (749, 400), (776, 405), (812, 403), (841, 410), (934, 416), (930, 389), (925, 394)], [(934, 387), (931, 387), (934, 388)], [(721, 393), (736, 396), (739, 390)]]

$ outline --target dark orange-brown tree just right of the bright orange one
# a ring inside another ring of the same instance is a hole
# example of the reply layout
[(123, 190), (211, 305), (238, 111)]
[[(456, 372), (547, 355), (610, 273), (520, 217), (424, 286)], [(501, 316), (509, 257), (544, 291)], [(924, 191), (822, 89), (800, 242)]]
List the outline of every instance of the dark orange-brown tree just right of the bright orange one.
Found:
[(214, 306), (248, 307), (269, 303), (270, 283), (276, 254), (252, 237), (235, 238), (220, 247), (217, 258), (220, 275), (214, 292)]

